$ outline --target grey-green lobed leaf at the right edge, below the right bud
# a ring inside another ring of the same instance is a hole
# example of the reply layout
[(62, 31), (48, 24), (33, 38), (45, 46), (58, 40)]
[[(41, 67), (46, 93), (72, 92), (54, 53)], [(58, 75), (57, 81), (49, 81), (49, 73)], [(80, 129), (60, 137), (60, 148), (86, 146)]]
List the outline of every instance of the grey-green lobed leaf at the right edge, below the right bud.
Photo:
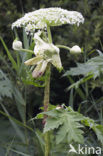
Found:
[(70, 70), (67, 71), (64, 74), (64, 76), (83, 75), (84, 77), (81, 78), (76, 83), (72, 84), (70, 87), (68, 87), (68, 90), (73, 87), (78, 88), (78, 86), (81, 83), (84, 83), (90, 80), (91, 78), (96, 79), (101, 75), (102, 72), (103, 72), (103, 54), (89, 59), (86, 63), (77, 63), (77, 67), (70, 68)]

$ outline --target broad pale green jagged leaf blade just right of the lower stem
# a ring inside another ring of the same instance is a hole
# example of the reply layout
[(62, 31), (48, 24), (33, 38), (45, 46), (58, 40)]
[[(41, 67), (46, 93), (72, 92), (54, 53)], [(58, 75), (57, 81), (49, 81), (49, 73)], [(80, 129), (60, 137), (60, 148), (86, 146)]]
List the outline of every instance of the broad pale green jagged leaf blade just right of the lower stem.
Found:
[(68, 142), (75, 141), (83, 143), (83, 131), (81, 128), (83, 125), (80, 121), (83, 116), (77, 112), (68, 112), (66, 109), (52, 110), (49, 112), (44, 112), (44, 114), (49, 117), (46, 120), (44, 127), (44, 133), (50, 130), (57, 129), (56, 143), (59, 144), (67, 138)]

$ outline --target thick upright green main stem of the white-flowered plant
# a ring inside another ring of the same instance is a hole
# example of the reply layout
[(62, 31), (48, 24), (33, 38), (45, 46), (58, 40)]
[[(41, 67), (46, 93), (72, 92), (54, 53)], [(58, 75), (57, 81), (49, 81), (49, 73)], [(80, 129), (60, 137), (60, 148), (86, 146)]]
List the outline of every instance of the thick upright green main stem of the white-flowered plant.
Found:
[[(52, 43), (52, 36), (50, 27), (47, 26), (47, 32), (48, 32), (48, 39), (49, 43)], [(44, 111), (48, 111), (49, 106), (49, 96), (50, 96), (50, 74), (51, 74), (51, 65), (48, 63), (47, 70), (46, 70), (46, 80), (45, 80), (45, 90), (44, 90)], [(44, 124), (46, 122), (47, 116), (44, 115)], [(44, 135), (45, 140), (45, 156), (50, 156), (50, 135), (49, 132), (46, 132)]]

